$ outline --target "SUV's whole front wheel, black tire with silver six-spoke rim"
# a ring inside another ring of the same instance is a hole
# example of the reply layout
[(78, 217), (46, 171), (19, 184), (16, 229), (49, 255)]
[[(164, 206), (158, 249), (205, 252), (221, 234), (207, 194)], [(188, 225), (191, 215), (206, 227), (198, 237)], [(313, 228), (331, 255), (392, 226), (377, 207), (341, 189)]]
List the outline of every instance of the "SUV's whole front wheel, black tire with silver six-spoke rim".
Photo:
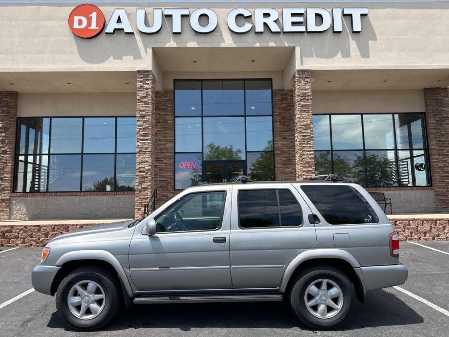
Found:
[(120, 309), (120, 285), (105, 268), (80, 267), (70, 272), (56, 293), (56, 308), (64, 322), (77, 330), (108, 324)]

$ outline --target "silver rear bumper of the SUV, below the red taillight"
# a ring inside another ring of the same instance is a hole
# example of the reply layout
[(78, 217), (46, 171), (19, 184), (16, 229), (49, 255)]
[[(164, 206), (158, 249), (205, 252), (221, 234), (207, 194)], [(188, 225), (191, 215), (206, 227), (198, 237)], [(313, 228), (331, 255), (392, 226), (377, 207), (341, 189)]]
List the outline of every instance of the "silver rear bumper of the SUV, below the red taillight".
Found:
[(360, 269), (367, 291), (404, 284), (409, 276), (409, 270), (401, 263), (389, 266), (361, 267)]

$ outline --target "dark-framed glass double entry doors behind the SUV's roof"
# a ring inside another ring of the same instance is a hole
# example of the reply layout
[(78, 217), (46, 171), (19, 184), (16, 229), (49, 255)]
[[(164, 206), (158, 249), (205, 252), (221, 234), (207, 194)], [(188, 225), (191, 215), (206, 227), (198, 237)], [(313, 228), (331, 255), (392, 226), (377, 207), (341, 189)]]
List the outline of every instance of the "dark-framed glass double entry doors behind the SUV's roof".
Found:
[(239, 176), (247, 175), (245, 160), (205, 161), (203, 182), (235, 182)]

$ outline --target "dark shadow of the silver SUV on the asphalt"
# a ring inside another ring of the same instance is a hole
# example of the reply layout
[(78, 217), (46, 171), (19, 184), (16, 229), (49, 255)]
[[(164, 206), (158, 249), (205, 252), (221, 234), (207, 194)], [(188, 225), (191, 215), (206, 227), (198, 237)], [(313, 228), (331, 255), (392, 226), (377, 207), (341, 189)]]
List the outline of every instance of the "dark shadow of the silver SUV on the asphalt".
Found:
[[(341, 330), (378, 326), (423, 323), (407, 304), (391, 293), (375, 290), (368, 293), (365, 304), (356, 300), (352, 319)], [(47, 325), (64, 328), (54, 312)], [(139, 328), (295, 328), (309, 330), (296, 319), (286, 302), (202, 303), (135, 305), (122, 310), (116, 319), (101, 331)]]

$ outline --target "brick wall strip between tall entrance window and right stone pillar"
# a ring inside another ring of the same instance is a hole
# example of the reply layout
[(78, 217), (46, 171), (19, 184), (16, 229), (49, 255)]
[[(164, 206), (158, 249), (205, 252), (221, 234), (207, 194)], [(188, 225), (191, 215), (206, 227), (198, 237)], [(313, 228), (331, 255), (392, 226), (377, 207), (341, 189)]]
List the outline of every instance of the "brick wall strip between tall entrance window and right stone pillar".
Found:
[(293, 90), (273, 90), (276, 180), (296, 180)]

